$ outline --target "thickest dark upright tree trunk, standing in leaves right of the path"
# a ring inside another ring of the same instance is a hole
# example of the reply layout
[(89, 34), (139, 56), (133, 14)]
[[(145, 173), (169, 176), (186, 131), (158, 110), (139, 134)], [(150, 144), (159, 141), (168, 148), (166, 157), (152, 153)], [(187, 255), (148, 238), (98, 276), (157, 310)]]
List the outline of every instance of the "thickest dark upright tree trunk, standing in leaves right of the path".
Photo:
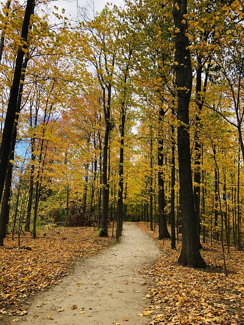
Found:
[(182, 248), (178, 258), (180, 265), (194, 268), (206, 267), (199, 251), (198, 223), (194, 213), (191, 152), (189, 135), (189, 104), (192, 91), (192, 65), (189, 39), (186, 36), (187, 0), (173, 2), (175, 35), (175, 76), (178, 96), (179, 120), (177, 144), (179, 165), (179, 199), (182, 215)]

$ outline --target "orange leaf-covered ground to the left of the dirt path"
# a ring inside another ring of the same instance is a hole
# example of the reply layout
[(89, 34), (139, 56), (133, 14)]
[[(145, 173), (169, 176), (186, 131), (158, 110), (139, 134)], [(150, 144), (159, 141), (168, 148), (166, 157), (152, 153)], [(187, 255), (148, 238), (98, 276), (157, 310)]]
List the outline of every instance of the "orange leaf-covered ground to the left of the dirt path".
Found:
[(72, 271), (79, 256), (91, 256), (113, 240), (98, 237), (93, 228), (54, 228), (39, 233), (37, 239), (30, 234), (21, 236), (21, 246), (9, 235), (0, 248), (0, 319), (1, 314), (24, 312), (19, 304), (26, 297), (56, 285), (58, 279)]

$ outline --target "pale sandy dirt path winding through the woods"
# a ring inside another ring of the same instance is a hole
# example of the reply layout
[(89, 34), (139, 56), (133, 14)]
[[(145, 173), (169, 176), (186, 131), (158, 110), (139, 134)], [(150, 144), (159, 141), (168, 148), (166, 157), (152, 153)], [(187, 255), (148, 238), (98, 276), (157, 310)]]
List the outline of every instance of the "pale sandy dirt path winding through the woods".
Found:
[(119, 244), (78, 261), (73, 275), (31, 300), (27, 315), (9, 316), (4, 325), (14, 319), (30, 325), (146, 325), (147, 317), (138, 316), (147, 306), (143, 269), (160, 255), (153, 239), (125, 223)]

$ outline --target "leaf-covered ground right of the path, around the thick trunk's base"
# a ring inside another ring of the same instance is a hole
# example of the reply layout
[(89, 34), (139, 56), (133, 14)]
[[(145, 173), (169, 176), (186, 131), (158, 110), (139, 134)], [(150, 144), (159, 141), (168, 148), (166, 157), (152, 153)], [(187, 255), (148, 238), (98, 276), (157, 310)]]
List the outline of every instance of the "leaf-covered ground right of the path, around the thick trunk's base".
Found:
[[(148, 231), (146, 223), (140, 227)], [(142, 315), (154, 324), (244, 324), (244, 257), (243, 252), (230, 248), (226, 252), (228, 277), (223, 272), (220, 244), (210, 240), (203, 244), (201, 254), (209, 266), (206, 270), (181, 267), (176, 264), (180, 252), (170, 249), (170, 240), (158, 241), (166, 255), (161, 257), (147, 275), (154, 280), (147, 297), (151, 305)]]

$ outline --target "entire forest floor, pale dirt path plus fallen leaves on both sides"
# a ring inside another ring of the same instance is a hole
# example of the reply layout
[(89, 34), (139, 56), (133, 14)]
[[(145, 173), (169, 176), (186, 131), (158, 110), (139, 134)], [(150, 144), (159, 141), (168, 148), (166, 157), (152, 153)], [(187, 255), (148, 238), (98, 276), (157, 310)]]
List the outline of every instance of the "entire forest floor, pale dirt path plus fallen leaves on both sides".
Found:
[(125, 223), (119, 244), (80, 228), (47, 230), (35, 241), (25, 236), (21, 245), (30, 251), (7, 249), (14, 245), (6, 241), (0, 323), (244, 324), (243, 252), (225, 249), (226, 277), (221, 245), (208, 239), (201, 251), (208, 268), (181, 267), (180, 244), (171, 250), (169, 240), (158, 241), (146, 223), (138, 225), (143, 232)]

